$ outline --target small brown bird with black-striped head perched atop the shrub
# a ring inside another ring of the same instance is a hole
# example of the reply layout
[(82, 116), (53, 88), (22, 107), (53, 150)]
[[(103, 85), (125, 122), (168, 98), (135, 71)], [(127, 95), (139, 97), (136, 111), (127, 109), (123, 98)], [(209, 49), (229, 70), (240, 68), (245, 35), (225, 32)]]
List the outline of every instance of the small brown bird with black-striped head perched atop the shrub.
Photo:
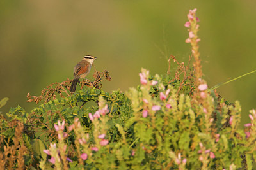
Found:
[(78, 83), (79, 78), (85, 78), (89, 74), (94, 60), (97, 60), (97, 57), (86, 55), (83, 57), (83, 60), (81, 60), (76, 64), (76, 66), (74, 67), (74, 73), (73, 73), (74, 79), (69, 89), (70, 92), (76, 91), (76, 85)]

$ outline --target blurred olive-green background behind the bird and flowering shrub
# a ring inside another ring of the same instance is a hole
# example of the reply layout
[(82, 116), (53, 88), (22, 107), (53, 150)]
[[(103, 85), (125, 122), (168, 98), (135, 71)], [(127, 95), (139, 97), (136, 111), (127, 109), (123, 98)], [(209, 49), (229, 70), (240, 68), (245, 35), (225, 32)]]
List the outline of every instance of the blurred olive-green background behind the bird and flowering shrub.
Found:
[[(168, 56), (187, 62), (191, 54), (184, 23), (193, 8), (210, 87), (256, 69), (256, 1), (1, 0), (0, 99), (10, 98), (1, 110), (18, 104), (31, 110), (35, 104), (26, 103), (26, 94), (38, 96), (50, 83), (72, 78), (84, 55), (98, 57), (97, 71), (109, 71), (108, 92), (138, 85), (141, 67), (165, 74)], [(243, 124), (256, 106), (255, 85), (250, 74), (218, 89), (225, 99), (241, 102)]]

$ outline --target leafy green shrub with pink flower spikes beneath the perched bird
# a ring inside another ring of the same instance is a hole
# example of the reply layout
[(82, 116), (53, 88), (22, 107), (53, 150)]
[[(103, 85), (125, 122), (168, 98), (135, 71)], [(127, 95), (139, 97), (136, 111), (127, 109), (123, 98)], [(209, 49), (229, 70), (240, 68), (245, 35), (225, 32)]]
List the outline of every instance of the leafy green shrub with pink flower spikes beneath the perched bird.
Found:
[[(7, 118), (1, 117), (0, 167), (255, 168), (255, 110), (246, 128), (239, 129), (239, 102), (228, 103), (208, 90), (202, 79), (195, 10), (190, 15), (186, 42), (192, 45), (193, 68), (171, 56), (179, 66), (174, 76), (150, 76), (141, 69), (141, 85), (126, 93), (83, 87), (69, 94), (69, 80), (52, 87), (55, 91), (44, 89), (45, 103), (29, 113), (17, 106)], [(43, 98), (28, 94), (36, 103)]]

